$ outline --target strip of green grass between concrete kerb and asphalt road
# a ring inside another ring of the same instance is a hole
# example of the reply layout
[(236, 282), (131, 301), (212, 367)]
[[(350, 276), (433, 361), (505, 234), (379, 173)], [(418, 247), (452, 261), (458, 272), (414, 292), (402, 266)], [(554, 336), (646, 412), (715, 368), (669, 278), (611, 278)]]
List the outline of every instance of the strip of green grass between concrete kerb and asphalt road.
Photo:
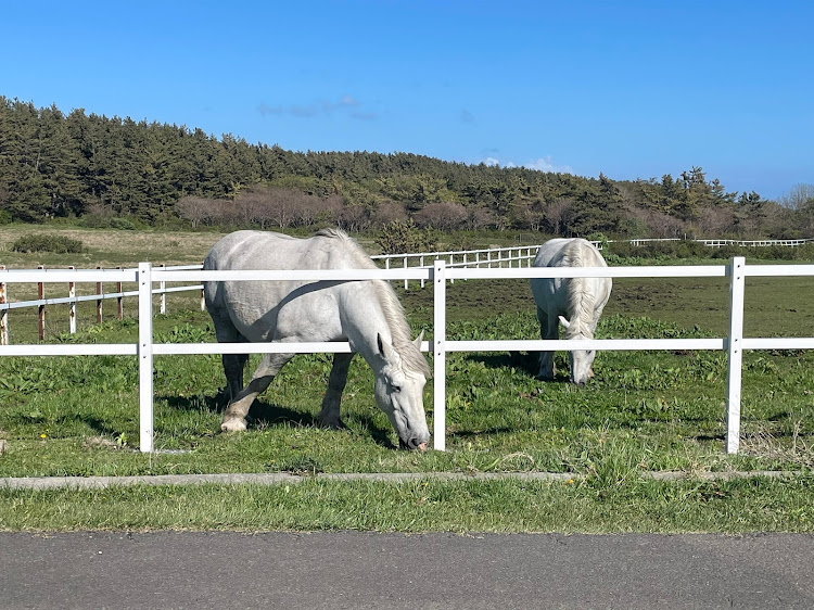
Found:
[(814, 479), (0, 490), (0, 531), (812, 532)]

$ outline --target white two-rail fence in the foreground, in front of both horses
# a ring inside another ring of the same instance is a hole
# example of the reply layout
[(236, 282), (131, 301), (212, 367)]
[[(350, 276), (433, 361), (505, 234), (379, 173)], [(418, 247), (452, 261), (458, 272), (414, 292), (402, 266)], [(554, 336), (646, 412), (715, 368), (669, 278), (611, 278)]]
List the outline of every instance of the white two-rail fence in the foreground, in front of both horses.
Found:
[[(141, 263), (137, 270), (78, 271), (31, 270), (0, 271), (0, 282), (138, 282), (139, 342), (137, 344), (80, 344), (80, 345), (5, 345), (2, 356), (85, 356), (129, 355), (139, 360), (140, 448), (153, 450), (153, 358), (175, 354), (245, 354), (245, 353), (335, 353), (349, 352), (347, 342), (279, 344), (247, 343), (153, 343), (153, 285), (177, 281), (258, 281), (258, 280), (331, 280), (360, 281), (424, 280), (431, 281), (434, 291), (433, 340), (423, 342), (422, 351), (433, 356), (434, 446), (445, 449), (446, 444), (446, 355), (450, 352), (504, 352), (543, 350), (725, 350), (728, 357), (727, 374), (727, 434), (726, 449), (737, 453), (740, 433), (740, 380), (743, 350), (811, 350), (814, 338), (763, 339), (743, 338), (743, 294), (746, 278), (752, 276), (814, 276), (814, 265), (746, 265), (742, 257), (734, 257), (729, 265), (683, 267), (609, 267), (609, 268), (463, 268), (449, 267), (443, 258), (433, 268), (360, 270), (296, 270), (296, 271), (203, 271), (167, 270)], [(673, 278), (673, 277), (728, 277), (730, 285), (729, 331), (720, 339), (627, 339), (627, 340), (507, 340), (507, 341), (447, 341), (446, 340), (446, 284), (455, 279), (507, 279), (551, 277), (610, 277), (610, 278)]]

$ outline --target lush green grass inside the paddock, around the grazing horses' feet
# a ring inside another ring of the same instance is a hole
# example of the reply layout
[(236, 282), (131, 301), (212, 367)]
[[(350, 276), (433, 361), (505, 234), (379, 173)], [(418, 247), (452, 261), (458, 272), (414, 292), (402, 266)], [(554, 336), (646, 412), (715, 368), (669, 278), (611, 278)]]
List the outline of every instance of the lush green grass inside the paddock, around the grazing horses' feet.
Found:
[[(160, 342), (212, 341), (201, 314), (158, 317)], [(132, 321), (109, 322), (72, 341), (135, 341)], [(531, 314), (450, 323), (449, 336), (533, 336)], [(608, 316), (599, 336), (705, 336), (651, 318)], [(195, 472), (555, 471), (590, 474), (615, 460), (631, 472), (792, 469), (814, 466), (814, 366), (810, 353), (748, 354), (743, 370), (745, 452), (723, 453), (726, 363), (722, 353), (601, 353), (585, 389), (534, 379), (533, 356), (455, 354), (447, 363), (446, 453), (394, 450), (376, 406), (373, 378), (354, 360), (343, 404), (348, 430), (316, 423), (328, 355), (302, 355), (250, 411), (246, 434), (217, 433), (222, 407), (218, 356), (155, 360), (155, 446), (138, 445), (136, 359), (4, 358), (0, 475)], [(424, 398), (432, 418), (431, 383)]]

